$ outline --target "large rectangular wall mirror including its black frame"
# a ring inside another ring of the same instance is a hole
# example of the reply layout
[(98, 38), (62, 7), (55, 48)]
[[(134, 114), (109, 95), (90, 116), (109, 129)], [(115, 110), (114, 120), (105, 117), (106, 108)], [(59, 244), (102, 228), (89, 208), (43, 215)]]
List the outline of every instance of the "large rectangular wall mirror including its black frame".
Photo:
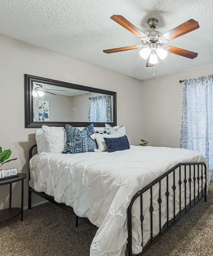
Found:
[(25, 127), (116, 125), (116, 93), (25, 75)]

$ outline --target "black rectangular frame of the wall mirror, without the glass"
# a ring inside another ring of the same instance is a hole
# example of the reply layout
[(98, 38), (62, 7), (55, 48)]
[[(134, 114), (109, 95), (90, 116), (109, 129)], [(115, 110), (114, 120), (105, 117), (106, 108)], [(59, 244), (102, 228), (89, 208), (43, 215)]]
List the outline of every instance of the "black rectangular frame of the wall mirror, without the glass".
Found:
[[(84, 127), (84, 126), (90, 125), (92, 123), (92, 122), (35, 122), (35, 121), (33, 121), (33, 100), (32, 100), (33, 99), (32, 98), (33, 82), (52, 84), (52, 85), (56, 85), (56, 86), (67, 87), (67, 88), (72, 88), (72, 89), (77, 89), (77, 90), (85, 90), (85, 91), (89, 91), (92, 93), (103, 93), (103, 94), (107, 94), (107, 95), (112, 95), (113, 96), (112, 97), (113, 98), (113, 111), (112, 111), (113, 122), (107, 122), (107, 123), (112, 126), (117, 125), (116, 92), (25, 74), (24, 75), (25, 128), (40, 128), (40, 127), (42, 127), (42, 125), (64, 126), (66, 124), (69, 124), (69, 125), (72, 125), (75, 127)], [(105, 126), (105, 122), (96, 122), (95, 124), (96, 124), (96, 126), (99, 126), (99, 127)]]

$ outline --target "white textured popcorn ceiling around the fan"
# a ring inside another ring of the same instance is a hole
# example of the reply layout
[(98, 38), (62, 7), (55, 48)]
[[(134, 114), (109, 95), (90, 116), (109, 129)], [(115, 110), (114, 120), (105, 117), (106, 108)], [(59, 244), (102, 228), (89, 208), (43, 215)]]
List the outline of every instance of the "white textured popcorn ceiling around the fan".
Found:
[(102, 52), (141, 42), (109, 17), (123, 15), (143, 32), (150, 17), (158, 18), (162, 33), (190, 18), (199, 22), (199, 29), (169, 42), (198, 57), (169, 53), (155, 68), (162, 76), (213, 64), (212, 10), (212, 0), (0, 0), (0, 33), (143, 80), (153, 77), (153, 68), (138, 50)]

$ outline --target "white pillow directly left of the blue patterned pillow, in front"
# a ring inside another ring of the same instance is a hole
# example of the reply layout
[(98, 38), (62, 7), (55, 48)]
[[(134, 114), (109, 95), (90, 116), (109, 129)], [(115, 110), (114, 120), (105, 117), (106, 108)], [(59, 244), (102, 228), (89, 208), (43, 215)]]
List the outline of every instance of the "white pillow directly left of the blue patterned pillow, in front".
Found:
[(63, 127), (42, 125), (45, 138), (45, 153), (61, 153), (66, 148), (66, 132)]

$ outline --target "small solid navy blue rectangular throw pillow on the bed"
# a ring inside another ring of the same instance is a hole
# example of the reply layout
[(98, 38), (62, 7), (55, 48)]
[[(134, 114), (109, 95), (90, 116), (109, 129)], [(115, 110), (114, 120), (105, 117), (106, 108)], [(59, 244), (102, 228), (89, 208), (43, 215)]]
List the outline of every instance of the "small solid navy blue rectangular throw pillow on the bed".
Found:
[(104, 140), (109, 152), (130, 149), (130, 143), (126, 135), (118, 138), (104, 138)]

